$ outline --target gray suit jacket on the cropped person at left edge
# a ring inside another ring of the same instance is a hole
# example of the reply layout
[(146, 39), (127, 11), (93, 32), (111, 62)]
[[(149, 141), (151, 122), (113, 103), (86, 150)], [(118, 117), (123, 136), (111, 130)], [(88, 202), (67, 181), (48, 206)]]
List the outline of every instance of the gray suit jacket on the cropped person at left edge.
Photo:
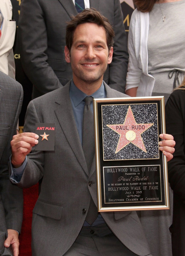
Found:
[(22, 86), (0, 72), (0, 255), (4, 251), (7, 229), (21, 232), (22, 189), (12, 185), (8, 175), (10, 141), (16, 134), (23, 99)]

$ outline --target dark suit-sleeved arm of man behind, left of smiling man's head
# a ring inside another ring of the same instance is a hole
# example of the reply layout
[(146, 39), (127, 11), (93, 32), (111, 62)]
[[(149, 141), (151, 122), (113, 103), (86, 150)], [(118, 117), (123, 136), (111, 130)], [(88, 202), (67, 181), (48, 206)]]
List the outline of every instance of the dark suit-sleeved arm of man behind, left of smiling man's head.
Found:
[(23, 69), (36, 89), (45, 94), (62, 87), (47, 63), (47, 28), (43, 10), (37, 0), (21, 2), (18, 39)]

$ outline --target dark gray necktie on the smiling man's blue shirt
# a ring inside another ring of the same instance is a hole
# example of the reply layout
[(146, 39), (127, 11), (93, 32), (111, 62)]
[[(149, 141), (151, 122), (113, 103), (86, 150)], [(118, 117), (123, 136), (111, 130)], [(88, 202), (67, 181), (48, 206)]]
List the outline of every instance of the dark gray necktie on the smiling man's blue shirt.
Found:
[[(87, 168), (90, 173), (91, 165), (95, 153), (95, 140), (94, 140), (94, 120), (93, 113), (90, 108), (90, 104), (93, 101), (93, 97), (86, 97), (84, 99), (85, 106), (83, 112), (83, 137), (82, 148), (87, 163)], [(87, 212), (86, 221), (91, 225), (98, 217), (98, 210), (91, 197), (89, 210)]]

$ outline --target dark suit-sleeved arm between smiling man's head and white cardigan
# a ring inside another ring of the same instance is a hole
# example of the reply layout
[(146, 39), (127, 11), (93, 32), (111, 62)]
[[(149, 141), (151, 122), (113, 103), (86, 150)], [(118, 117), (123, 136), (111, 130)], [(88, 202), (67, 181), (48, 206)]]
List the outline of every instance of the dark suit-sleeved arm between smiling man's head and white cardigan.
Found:
[(129, 55), (119, 0), (116, 0), (114, 4), (114, 32), (113, 60), (109, 64), (109, 86), (124, 93)]

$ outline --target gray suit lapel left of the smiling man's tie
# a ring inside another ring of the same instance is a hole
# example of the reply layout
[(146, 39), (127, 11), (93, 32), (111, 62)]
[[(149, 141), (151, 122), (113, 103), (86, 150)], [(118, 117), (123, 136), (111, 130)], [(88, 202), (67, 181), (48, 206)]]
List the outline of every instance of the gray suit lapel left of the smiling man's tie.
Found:
[(69, 96), (69, 86), (70, 82), (62, 88), (62, 93), (58, 95), (58, 98), (55, 101), (55, 114), (76, 158), (78, 159), (86, 174), (89, 175), (73, 115), (71, 99)]

